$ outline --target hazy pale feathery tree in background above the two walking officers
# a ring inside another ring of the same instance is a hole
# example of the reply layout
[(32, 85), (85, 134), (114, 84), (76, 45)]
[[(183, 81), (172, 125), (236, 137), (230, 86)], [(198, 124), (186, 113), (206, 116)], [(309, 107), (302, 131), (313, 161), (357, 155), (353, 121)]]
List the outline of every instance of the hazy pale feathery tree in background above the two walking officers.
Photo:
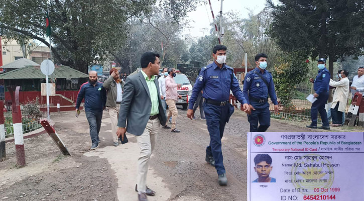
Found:
[[(237, 13), (226, 13), (224, 19), (225, 34), (223, 45), (227, 46), (228, 62), (233, 67), (240, 67), (248, 53), (248, 63), (255, 67), (255, 55), (268, 55), (267, 69), (273, 69), (279, 53), (276, 42), (266, 33), (272, 20), (267, 10), (257, 15), (248, 10), (249, 18), (241, 19)], [(249, 65), (248, 64), (248, 65)]]

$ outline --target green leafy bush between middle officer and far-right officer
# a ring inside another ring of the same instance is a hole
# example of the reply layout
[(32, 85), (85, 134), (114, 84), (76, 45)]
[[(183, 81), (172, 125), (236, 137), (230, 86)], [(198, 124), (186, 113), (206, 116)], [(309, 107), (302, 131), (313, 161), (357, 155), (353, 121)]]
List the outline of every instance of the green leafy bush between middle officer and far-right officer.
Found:
[(282, 54), (278, 59), (280, 64), (275, 65), (273, 80), (284, 107), (291, 107), (296, 85), (306, 79), (309, 70), (306, 59), (300, 52), (291, 52)]

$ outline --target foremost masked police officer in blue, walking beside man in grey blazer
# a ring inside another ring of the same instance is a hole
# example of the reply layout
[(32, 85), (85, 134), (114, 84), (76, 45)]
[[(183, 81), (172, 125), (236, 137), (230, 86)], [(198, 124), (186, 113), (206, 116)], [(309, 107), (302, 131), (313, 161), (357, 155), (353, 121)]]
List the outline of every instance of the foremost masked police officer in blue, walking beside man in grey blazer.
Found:
[(196, 83), (193, 86), (192, 95), (188, 103), (187, 117), (193, 118), (193, 105), (198, 93), (203, 90), (205, 98), (204, 112), (207, 129), (210, 134), (210, 144), (206, 147), (205, 160), (215, 166), (218, 174), (218, 183), (227, 184), (225, 167), (222, 162), (221, 138), (225, 124), (234, 112), (234, 107), (228, 102), (230, 90), (234, 96), (243, 104), (243, 109), (248, 112), (247, 100), (239, 88), (239, 83), (234, 75), (234, 70), (225, 65), (226, 47), (216, 45), (213, 47), (214, 62), (201, 69)]

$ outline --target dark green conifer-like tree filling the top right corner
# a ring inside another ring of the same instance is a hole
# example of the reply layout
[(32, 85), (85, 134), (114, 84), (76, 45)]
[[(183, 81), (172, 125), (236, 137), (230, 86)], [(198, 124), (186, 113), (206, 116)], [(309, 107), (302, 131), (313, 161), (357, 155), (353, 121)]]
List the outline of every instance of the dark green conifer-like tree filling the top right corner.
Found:
[(269, 34), (286, 51), (300, 51), (304, 57), (329, 58), (333, 63), (348, 55), (360, 56), (364, 47), (364, 1), (280, 0), (272, 9)]

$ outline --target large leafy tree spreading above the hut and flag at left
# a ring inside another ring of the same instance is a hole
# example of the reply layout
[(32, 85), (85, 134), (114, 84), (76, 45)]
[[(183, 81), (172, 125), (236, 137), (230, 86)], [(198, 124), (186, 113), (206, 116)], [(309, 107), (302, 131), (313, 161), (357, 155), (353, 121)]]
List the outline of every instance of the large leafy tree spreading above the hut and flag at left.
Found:
[(114, 52), (125, 42), (126, 21), (148, 13), (155, 0), (4, 0), (0, 4), (0, 35), (23, 35), (49, 46), (45, 14), (49, 9), (52, 54), (57, 63), (87, 72), (95, 56)]

